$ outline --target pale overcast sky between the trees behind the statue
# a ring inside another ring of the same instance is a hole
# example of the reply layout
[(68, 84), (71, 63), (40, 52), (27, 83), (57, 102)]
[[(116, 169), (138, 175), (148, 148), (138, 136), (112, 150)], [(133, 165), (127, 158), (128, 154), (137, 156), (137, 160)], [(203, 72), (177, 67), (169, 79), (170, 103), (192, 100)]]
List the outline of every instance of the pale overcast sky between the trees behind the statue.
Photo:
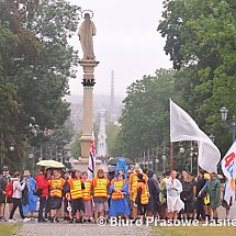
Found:
[[(115, 76), (115, 95), (125, 97), (126, 88), (144, 75), (154, 75), (158, 68), (170, 68), (164, 52), (165, 38), (157, 32), (161, 19), (162, 0), (69, 0), (83, 10), (94, 12), (97, 26), (93, 37), (94, 54), (100, 61), (95, 68), (95, 94), (110, 94), (111, 70)], [(71, 44), (80, 48), (75, 35)], [(70, 81), (71, 94), (82, 95), (82, 68)]]

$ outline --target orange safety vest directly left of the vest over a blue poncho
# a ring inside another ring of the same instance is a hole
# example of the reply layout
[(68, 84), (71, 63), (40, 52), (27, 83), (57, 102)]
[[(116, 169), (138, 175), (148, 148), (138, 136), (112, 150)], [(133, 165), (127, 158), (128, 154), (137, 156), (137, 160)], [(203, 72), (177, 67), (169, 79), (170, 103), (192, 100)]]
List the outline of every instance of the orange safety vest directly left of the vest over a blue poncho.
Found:
[(108, 186), (109, 186), (109, 180), (106, 178), (94, 178), (93, 179), (94, 198), (109, 198)]

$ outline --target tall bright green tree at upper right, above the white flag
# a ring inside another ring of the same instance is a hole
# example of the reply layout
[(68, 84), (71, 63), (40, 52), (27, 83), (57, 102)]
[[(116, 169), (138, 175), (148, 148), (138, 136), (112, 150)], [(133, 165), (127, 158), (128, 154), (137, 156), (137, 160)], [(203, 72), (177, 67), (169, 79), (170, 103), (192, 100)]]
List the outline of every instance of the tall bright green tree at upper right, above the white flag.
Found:
[[(218, 111), (227, 106), (232, 114), (236, 113), (236, 3), (167, 0), (164, 5), (158, 31), (167, 38), (165, 52), (170, 55), (175, 69), (184, 68), (194, 75), (186, 80), (193, 94), (186, 104), (203, 130), (215, 132), (216, 143), (225, 149), (229, 139), (222, 134)], [(181, 82), (183, 79), (177, 80), (179, 87)]]

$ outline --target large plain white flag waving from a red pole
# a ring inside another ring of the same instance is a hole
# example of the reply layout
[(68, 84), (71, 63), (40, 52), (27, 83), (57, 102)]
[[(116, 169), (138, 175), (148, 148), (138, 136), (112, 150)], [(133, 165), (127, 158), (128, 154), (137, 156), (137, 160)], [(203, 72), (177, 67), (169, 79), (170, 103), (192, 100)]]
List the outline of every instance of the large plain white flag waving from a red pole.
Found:
[(216, 172), (221, 159), (218, 148), (202, 132), (192, 117), (170, 100), (170, 141), (196, 141), (199, 146), (199, 166), (207, 172)]

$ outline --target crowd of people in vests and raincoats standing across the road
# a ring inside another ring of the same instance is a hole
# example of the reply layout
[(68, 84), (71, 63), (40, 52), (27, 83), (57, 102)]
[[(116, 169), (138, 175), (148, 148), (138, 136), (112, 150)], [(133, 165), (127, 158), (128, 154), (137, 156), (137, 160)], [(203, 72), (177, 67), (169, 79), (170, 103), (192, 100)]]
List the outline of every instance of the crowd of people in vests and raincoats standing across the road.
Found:
[[(11, 205), (11, 222), (15, 221), (13, 215), (16, 207), (22, 218), (27, 220), (29, 212), (33, 217), (38, 199), (38, 222), (42, 223), (58, 223), (63, 220), (68, 223), (95, 223), (100, 216), (133, 221), (145, 221), (148, 216), (158, 220), (218, 218), (222, 184), (216, 173), (203, 170), (194, 178), (187, 171), (166, 171), (161, 177), (156, 177), (153, 170), (135, 167), (128, 167), (125, 175), (122, 169), (109, 173), (99, 169), (91, 180), (87, 172), (79, 170), (63, 172), (41, 167), (34, 179), (30, 171), (26, 172), (26, 179), (33, 181), (27, 191), (27, 209), (25, 210), (22, 192), (30, 181), (20, 182), (20, 172), (13, 175), (13, 178), (19, 179), (15, 184), (18, 194), (14, 193), (11, 201), (1, 201), (0, 209), (7, 203)], [(31, 192), (35, 188), (41, 190), (40, 196)], [(3, 194), (1, 186), (0, 191)], [(0, 218), (4, 220), (2, 211)]]

